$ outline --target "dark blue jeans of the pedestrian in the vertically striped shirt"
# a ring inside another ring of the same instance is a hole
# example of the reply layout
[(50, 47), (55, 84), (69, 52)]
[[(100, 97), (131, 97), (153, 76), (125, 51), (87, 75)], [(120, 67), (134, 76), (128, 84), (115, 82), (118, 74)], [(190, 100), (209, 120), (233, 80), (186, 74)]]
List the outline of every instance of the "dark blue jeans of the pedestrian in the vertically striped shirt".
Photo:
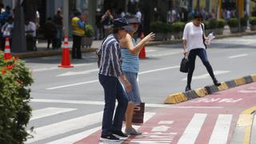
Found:
[[(126, 113), (128, 98), (124, 94), (122, 85), (116, 77), (98, 74), (105, 94), (105, 107), (102, 119), (102, 135), (111, 134), (112, 130), (122, 130), (122, 119)], [(114, 114), (115, 99), (118, 106)], [(114, 115), (114, 120), (112, 122)]]

